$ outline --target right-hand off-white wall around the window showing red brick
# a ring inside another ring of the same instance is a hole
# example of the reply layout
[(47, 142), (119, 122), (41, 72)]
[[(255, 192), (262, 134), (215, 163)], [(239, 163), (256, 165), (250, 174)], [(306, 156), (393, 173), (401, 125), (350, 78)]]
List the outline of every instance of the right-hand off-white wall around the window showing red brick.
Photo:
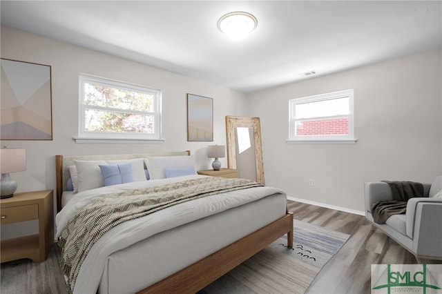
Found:
[[(432, 182), (442, 173), (441, 59), (427, 52), (250, 94), (266, 184), (363, 211), (364, 182)], [(347, 89), (354, 89), (356, 144), (287, 144), (289, 99)]]

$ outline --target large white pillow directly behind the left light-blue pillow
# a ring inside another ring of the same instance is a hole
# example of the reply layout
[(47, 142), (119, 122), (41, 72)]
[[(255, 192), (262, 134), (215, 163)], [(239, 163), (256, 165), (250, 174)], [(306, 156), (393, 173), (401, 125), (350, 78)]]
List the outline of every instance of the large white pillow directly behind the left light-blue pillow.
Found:
[(122, 160), (74, 160), (78, 174), (78, 192), (84, 190), (95, 189), (104, 186), (102, 170), (99, 165), (106, 164), (122, 164), (132, 163), (133, 181), (146, 181), (146, 173), (144, 173), (144, 161), (142, 158), (122, 159)]

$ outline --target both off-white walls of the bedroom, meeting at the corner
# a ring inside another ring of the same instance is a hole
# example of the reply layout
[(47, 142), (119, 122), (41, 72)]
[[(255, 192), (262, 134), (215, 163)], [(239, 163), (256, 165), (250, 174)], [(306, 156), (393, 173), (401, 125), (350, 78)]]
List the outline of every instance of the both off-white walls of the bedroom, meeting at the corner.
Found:
[[(431, 182), (442, 173), (441, 52), (428, 52), (249, 95), (68, 43), (1, 26), (1, 57), (52, 66), (52, 141), (1, 141), (26, 148), (17, 191), (55, 189), (56, 154), (191, 150), (210, 168), (206, 146), (225, 144), (225, 115), (260, 117), (265, 180), (291, 197), (363, 210), (363, 182)], [(78, 75), (162, 89), (164, 143), (75, 144)], [(287, 144), (288, 101), (354, 89), (356, 144)], [(186, 93), (213, 98), (214, 141), (186, 141)], [(227, 160), (222, 159), (223, 166)], [(308, 179), (314, 179), (310, 187)]]

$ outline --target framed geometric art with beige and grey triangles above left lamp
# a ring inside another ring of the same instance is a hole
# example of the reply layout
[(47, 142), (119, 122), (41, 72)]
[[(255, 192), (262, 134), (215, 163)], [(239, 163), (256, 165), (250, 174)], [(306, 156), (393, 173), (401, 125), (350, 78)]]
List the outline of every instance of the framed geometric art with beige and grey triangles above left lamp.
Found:
[(51, 68), (1, 61), (1, 140), (52, 140)]

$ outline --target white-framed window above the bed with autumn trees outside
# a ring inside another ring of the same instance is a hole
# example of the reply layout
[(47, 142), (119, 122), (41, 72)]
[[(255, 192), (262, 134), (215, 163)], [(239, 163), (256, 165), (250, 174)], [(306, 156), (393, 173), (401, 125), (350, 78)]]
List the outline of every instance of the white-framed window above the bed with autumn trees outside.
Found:
[(161, 91), (80, 75), (79, 139), (161, 139)]

